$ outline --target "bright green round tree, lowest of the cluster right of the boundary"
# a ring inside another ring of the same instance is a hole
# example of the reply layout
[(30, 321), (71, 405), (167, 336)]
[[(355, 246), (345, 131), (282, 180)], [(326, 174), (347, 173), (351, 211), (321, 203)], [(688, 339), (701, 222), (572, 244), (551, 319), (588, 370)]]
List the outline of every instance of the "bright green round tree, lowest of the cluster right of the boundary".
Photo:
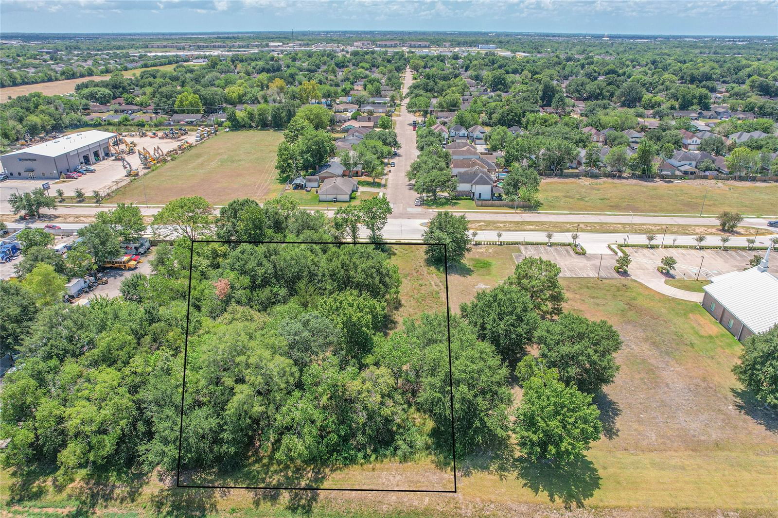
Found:
[(560, 382), (554, 369), (541, 369), (524, 383), (513, 431), (524, 455), (534, 461), (566, 463), (600, 438), (600, 411), (591, 394)]

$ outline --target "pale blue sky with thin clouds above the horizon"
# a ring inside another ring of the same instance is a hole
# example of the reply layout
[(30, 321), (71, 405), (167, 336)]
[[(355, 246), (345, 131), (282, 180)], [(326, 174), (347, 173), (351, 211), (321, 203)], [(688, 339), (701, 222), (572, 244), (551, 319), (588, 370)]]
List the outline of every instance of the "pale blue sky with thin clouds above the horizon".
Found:
[(2, 0), (2, 32), (478, 30), (778, 35), (778, 0)]

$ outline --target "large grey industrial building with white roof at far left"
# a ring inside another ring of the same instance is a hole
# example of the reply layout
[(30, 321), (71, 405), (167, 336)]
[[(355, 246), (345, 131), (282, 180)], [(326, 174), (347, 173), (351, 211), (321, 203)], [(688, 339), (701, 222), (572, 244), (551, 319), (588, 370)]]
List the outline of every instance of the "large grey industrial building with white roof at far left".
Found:
[(83, 131), (0, 156), (2, 170), (13, 180), (57, 180), (100, 160), (110, 158), (108, 143), (115, 133)]

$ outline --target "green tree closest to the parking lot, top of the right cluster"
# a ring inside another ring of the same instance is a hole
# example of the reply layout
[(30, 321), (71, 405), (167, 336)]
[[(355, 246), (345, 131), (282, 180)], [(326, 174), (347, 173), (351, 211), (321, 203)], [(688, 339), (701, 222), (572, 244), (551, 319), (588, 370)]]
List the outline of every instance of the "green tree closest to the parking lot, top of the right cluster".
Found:
[(566, 301), (564, 290), (559, 283), (562, 272), (553, 261), (540, 257), (524, 257), (506, 284), (518, 286), (532, 300), (535, 311), (543, 318), (551, 318), (562, 313), (562, 303)]

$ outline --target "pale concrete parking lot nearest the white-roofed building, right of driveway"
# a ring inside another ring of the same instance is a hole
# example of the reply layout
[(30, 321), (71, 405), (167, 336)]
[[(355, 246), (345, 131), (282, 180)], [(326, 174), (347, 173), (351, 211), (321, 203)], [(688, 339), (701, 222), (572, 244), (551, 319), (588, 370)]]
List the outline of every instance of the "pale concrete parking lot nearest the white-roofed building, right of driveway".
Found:
[[(629, 271), (638, 275), (640, 271), (656, 271), (662, 257), (671, 256), (678, 261), (675, 265), (676, 278), (710, 278), (748, 268), (748, 261), (759, 254), (764, 256), (765, 250), (713, 250), (693, 248), (626, 248), (633, 258)], [(702, 270), (700, 270), (702, 263)], [(769, 271), (778, 275), (778, 261), (770, 261)]]

